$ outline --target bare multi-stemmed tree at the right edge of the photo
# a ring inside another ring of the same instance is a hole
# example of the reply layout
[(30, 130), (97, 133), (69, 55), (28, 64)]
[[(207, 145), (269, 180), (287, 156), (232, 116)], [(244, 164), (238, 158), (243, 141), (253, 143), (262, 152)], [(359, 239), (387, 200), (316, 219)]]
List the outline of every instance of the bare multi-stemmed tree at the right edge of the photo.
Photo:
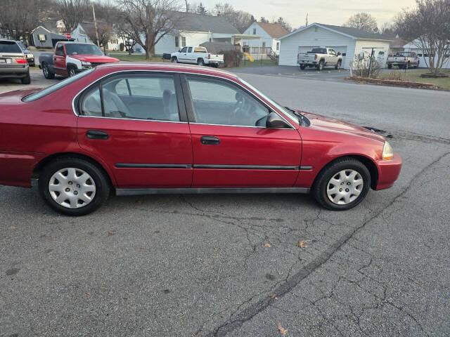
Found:
[(427, 67), (438, 74), (450, 54), (450, 0), (416, 0), (416, 8), (395, 20), (399, 35), (428, 55)]

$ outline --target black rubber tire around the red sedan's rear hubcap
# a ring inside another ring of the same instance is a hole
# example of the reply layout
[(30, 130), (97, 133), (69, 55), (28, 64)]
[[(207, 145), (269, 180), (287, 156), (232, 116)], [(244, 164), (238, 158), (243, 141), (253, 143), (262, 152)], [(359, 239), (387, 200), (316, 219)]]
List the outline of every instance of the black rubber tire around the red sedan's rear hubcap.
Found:
[[(73, 209), (68, 208), (58, 204), (58, 202), (51, 197), (49, 190), (50, 179), (53, 174), (65, 168), (80, 169), (88, 173), (94, 180), (96, 188), (94, 199), (92, 199), (89, 204), (86, 204), (86, 206), (80, 206), (79, 208)], [(46, 203), (58, 213), (67, 216), (84, 216), (96, 211), (96, 209), (105, 203), (110, 194), (110, 184), (105, 173), (103, 173), (103, 171), (95, 164), (77, 157), (67, 157), (56, 159), (44, 166), (44, 169), (42, 169), (41, 175), (39, 176), (39, 193)]]

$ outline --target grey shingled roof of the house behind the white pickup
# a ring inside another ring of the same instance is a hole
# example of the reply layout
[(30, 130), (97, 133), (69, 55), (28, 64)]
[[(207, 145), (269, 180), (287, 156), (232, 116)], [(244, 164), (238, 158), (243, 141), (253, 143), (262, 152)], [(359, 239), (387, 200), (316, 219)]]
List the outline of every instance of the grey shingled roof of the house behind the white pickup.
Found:
[(221, 34), (239, 34), (224, 16), (201, 15), (179, 12), (177, 29), (188, 32), (212, 32)]

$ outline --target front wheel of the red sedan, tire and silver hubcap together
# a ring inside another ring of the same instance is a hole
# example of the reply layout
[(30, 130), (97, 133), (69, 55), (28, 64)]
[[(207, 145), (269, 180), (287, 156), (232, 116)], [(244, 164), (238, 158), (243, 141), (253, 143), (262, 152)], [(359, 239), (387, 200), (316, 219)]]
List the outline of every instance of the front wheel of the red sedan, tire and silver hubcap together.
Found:
[(327, 209), (343, 211), (359, 204), (371, 188), (371, 173), (353, 158), (342, 158), (326, 166), (317, 177), (312, 194)]

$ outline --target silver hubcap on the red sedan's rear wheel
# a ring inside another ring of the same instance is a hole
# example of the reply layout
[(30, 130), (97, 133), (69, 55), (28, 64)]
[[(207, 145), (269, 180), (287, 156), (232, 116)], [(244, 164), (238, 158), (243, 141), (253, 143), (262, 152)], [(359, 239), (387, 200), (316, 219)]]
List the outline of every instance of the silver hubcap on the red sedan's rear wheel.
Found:
[(94, 200), (96, 183), (85, 171), (69, 167), (51, 176), (49, 192), (61, 206), (79, 209)]

